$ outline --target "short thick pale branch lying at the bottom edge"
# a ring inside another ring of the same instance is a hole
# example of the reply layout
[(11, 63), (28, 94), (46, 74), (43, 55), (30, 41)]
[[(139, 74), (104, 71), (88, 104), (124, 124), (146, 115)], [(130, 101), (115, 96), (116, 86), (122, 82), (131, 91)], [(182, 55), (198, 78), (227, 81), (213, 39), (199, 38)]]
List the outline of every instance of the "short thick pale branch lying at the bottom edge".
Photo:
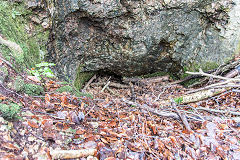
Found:
[(74, 159), (88, 156), (94, 156), (97, 153), (96, 149), (81, 149), (81, 150), (50, 150), (52, 159)]

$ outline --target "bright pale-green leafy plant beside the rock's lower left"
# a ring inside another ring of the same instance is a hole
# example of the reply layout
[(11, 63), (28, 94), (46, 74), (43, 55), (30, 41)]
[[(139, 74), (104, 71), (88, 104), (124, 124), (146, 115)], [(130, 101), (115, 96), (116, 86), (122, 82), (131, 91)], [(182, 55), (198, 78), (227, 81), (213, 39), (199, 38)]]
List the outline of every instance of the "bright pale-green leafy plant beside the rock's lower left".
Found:
[(55, 66), (54, 63), (42, 62), (35, 65), (35, 68), (30, 70), (30, 73), (41, 80), (41, 77), (53, 78), (55, 77), (51, 66)]

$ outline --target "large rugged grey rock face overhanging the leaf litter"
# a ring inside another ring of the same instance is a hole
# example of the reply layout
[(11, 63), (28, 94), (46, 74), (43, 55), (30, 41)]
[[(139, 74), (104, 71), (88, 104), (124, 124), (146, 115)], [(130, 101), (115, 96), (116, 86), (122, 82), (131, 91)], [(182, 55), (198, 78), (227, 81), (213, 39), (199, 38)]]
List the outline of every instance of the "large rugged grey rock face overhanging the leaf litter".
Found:
[(237, 52), (240, 0), (57, 0), (48, 59), (134, 76), (220, 64)]

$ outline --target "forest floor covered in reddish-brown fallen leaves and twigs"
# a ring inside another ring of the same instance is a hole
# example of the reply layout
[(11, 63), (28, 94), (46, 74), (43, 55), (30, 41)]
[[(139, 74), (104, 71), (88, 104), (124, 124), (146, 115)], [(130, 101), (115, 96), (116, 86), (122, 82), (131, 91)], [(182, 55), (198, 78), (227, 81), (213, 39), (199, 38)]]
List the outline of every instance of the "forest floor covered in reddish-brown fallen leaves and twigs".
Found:
[[(21, 111), (14, 120), (0, 116), (0, 157), (240, 159), (240, 90), (233, 87), (181, 104), (176, 97), (194, 89), (173, 82), (165, 76), (124, 87), (114, 78), (97, 76), (85, 90), (93, 97), (57, 93), (63, 84), (53, 80), (41, 84), (46, 89), (42, 96), (1, 84), (0, 103), (18, 104)], [(164, 104), (166, 99), (170, 102)]]

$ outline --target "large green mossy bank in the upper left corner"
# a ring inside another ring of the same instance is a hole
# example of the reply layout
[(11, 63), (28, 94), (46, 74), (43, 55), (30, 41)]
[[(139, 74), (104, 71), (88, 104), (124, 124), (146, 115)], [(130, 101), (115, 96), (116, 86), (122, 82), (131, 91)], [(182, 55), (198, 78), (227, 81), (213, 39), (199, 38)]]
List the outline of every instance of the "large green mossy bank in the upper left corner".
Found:
[(30, 68), (39, 62), (39, 45), (35, 37), (26, 33), (28, 17), (31, 11), (26, 9), (24, 3), (11, 3), (0, 0), (0, 33), (7, 40), (18, 44), (23, 55), (13, 53), (6, 46), (0, 45), (0, 50), (6, 60), (13, 63), (16, 69)]

